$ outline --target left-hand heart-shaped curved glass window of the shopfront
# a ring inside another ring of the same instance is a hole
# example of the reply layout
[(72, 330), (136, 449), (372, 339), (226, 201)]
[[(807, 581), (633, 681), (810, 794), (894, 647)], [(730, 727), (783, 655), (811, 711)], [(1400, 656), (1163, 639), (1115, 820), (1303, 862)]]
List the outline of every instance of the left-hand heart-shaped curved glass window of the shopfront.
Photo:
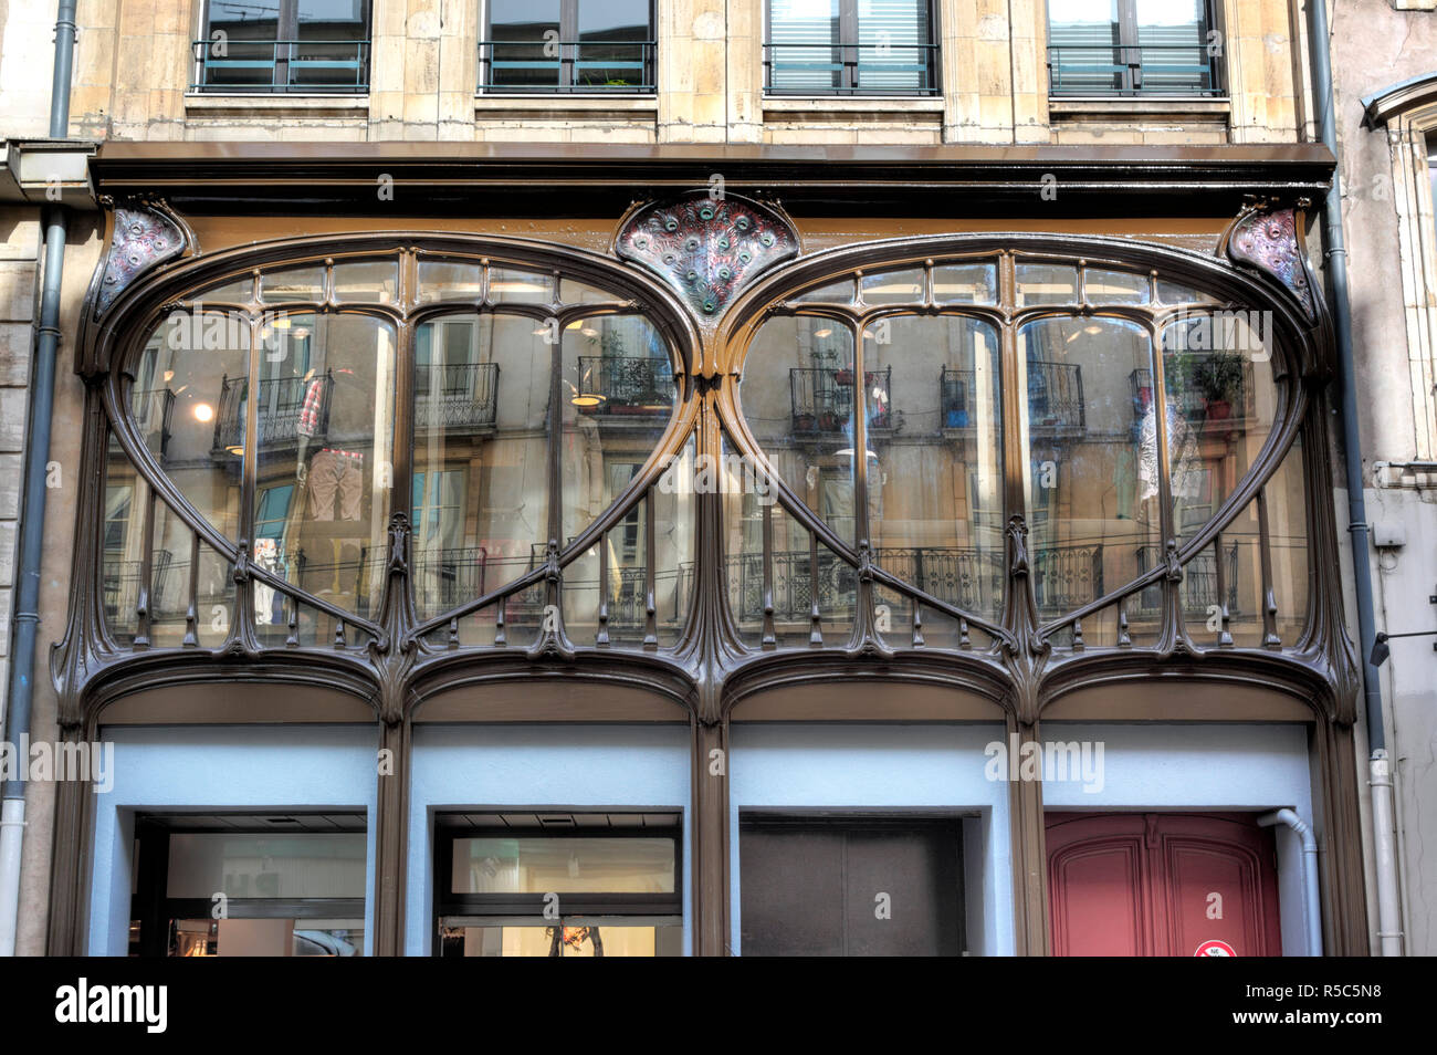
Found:
[[(378, 618), (389, 519), (407, 506), (420, 618), (532, 572), (549, 540), (568, 546), (625, 492), (677, 391), (671, 348), (631, 295), (411, 252), (211, 283), (152, 331), (126, 374), (132, 424), (178, 499), (295, 588), (253, 584), (260, 638), (287, 644), (342, 640), (343, 614)], [(144, 601), (125, 585), (141, 568), (142, 489), (114, 471), (106, 561), (122, 634)], [(167, 502), (149, 519), (157, 538), (175, 535), (160, 538), (172, 543), (175, 594), (188, 529)], [(157, 642), (174, 637), (154, 598), (148, 618)], [(191, 638), (194, 622), (188, 612)]]

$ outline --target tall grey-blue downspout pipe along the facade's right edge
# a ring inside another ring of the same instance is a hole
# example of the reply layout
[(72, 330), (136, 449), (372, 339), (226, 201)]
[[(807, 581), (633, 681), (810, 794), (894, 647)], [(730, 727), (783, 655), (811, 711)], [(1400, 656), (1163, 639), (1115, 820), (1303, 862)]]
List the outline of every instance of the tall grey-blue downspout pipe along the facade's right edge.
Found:
[[(1338, 155), (1338, 125), (1332, 99), (1331, 30), (1328, 1), (1306, 0), (1312, 56), (1312, 95), (1322, 142)], [(1352, 306), (1348, 299), (1346, 244), (1342, 237), (1342, 167), (1332, 171), (1332, 187), (1322, 207), (1322, 240), (1326, 246), (1328, 293), (1336, 329), (1342, 411), (1342, 453), (1348, 486), (1348, 535), (1352, 539), (1352, 579), (1357, 591), (1358, 661), (1367, 704), (1367, 740), (1371, 749), (1368, 783), (1372, 789), (1372, 847), (1377, 868), (1377, 934), (1382, 956), (1403, 954), (1401, 914), (1397, 908), (1397, 854), (1392, 831), (1392, 782), (1387, 763), (1387, 727), (1382, 720), (1382, 683), (1371, 663), (1377, 625), (1372, 615), (1371, 528), (1364, 496), (1362, 437), (1358, 430), (1357, 369), (1352, 361)], [(1380, 772), (1381, 770), (1381, 772)], [(1382, 802), (1378, 802), (1382, 799)]]

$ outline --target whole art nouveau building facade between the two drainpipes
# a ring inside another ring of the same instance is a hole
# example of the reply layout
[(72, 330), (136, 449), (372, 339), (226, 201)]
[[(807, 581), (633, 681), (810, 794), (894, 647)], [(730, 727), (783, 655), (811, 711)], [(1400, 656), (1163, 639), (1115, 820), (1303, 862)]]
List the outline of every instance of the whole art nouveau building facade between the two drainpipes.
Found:
[[(385, 124), (384, 34), (428, 47), (391, 7), (285, 52), (364, 62), (366, 122), (201, 55), (151, 96), (182, 142), (91, 160), (36, 736), (115, 745), (114, 788), (32, 788), (30, 952), (1368, 950), (1334, 160), (1300, 33), (1260, 76), (1236, 46), (1283, 4), (1203, 9), (1216, 65), (1117, 20), (1098, 75), (1082, 19), (1007, 4), (921, 4), (923, 60), (865, 68), (858, 4), (836, 95), (793, 6), (660, 6), (618, 101), (493, 91), (539, 62), (496, 4), (434, 37), (477, 93), (401, 95), (573, 141), (509, 147)], [(203, 142), (221, 105), (283, 141)]]

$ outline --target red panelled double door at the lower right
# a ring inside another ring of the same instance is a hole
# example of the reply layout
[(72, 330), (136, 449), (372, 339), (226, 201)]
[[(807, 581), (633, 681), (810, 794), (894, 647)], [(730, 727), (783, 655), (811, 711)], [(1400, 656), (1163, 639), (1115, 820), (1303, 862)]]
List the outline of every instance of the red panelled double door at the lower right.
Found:
[(1048, 814), (1053, 956), (1280, 956), (1276, 845), (1246, 814)]

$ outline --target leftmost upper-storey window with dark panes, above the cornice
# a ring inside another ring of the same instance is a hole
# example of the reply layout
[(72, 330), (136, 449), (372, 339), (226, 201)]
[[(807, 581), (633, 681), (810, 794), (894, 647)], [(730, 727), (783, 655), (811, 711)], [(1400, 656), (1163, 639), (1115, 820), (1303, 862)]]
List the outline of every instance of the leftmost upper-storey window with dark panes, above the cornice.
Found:
[(210, 0), (191, 91), (369, 91), (369, 0)]

